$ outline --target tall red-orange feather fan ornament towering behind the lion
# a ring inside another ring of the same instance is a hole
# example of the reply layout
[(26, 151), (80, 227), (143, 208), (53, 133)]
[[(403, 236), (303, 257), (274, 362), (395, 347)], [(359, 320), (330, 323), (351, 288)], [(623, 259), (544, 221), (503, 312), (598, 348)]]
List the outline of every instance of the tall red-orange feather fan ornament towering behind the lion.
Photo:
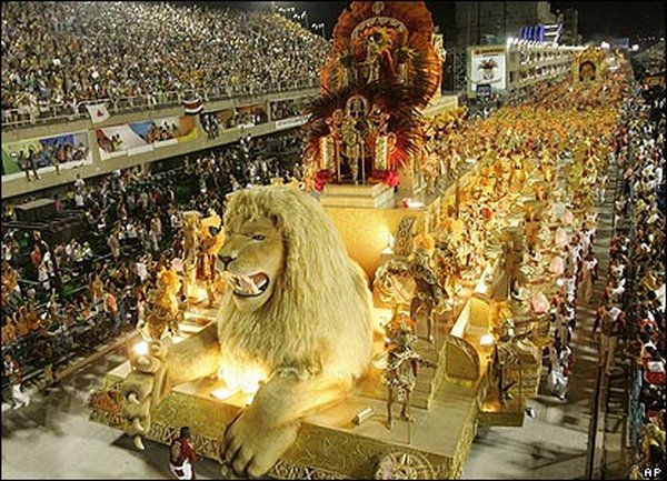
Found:
[(419, 109), (440, 87), (432, 31), (424, 2), (351, 2), (334, 29), (320, 96), (307, 108), (306, 161), (334, 173), (355, 152), (370, 166), (365, 181), (397, 182), (398, 170), (424, 147)]

